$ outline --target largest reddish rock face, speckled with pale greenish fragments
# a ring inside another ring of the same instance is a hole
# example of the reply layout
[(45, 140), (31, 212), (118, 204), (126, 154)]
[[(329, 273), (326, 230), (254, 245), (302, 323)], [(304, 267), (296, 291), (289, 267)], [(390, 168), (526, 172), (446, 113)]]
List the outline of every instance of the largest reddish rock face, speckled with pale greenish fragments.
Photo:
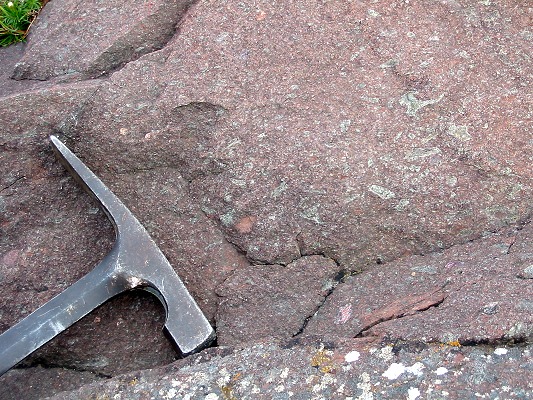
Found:
[[(358, 270), (464, 243), (531, 212), (527, 10), (506, 9), (512, 28), (479, 20), (498, 7), (200, 2), (72, 135), (117, 172), (188, 175), (255, 262), (325, 254)], [(212, 122), (191, 133), (188, 118)], [(109, 146), (135, 157), (111, 164)]]

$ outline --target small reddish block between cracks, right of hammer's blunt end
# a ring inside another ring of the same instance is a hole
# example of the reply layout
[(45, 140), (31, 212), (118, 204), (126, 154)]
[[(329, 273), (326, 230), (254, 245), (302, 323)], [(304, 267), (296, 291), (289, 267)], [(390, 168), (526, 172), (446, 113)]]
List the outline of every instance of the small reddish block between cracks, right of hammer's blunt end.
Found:
[(339, 274), (339, 266), (321, 256), (302, 257), (286, 267), (253, 265), (236, 271), (217, 290), (218, 344), (300, 334), (337, 285)]

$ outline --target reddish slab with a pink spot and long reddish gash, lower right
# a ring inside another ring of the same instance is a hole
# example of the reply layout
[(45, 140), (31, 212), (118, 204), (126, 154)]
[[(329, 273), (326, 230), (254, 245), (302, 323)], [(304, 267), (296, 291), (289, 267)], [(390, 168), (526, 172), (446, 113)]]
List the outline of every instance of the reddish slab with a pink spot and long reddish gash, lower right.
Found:
[(425, 343), (530, 342), (533, 286), (525, 275), (533, 264), (531, 232), (528, 224), (352, 276), (304, 333)]

